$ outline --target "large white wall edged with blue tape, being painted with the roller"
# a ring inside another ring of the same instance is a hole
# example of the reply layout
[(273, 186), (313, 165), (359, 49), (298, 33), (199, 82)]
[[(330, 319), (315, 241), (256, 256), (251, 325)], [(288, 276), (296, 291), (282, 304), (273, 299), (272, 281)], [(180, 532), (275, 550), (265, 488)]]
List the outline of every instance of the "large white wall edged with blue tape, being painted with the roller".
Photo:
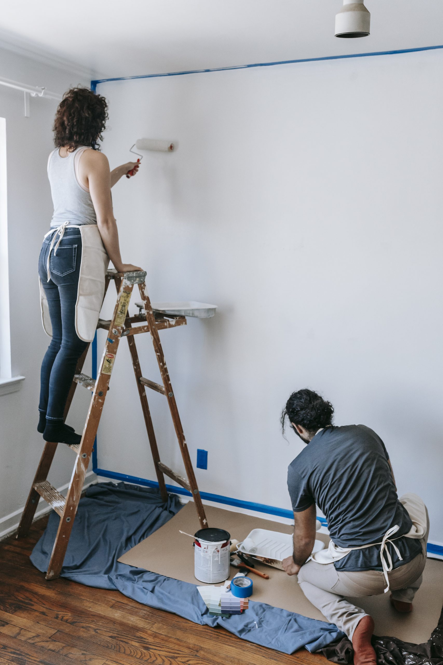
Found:
[[(290, 508), (302, 444), (279, 416), (309, 386), (336, 424), (380, 434), (399, 492), (422, 495), (443, 541), (442, 72), (434, 51), (98, 86), (112, 167), (139, 137), (179, 140), (113, 196), (124, 261), (147, 270), (151, 298), (219, 305), (161, 333), (193, 462), (209, 451), (202, 491)], [(99, 466), (154, 479), (121, 348)], [(181, 471), (165, 401), (149, 400)]]

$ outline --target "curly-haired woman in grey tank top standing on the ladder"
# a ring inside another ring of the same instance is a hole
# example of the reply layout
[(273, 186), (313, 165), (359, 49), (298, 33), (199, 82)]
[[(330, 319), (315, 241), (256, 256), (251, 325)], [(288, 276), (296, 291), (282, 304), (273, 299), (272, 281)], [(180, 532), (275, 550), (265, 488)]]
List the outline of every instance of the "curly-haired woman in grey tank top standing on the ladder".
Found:
[(72, 88), (54, 120), (56, 148), (48, 159), (54, 215), (39, 259), (43, 327), (52, 340), (41, 367), (37, 429), (49, 442), (81, 440), (64, 424), (64, 408), (78, 358), (94, 338), (109, 260), (121, 273), (141, 270), (122, 262), (111, 199), (112, 186), (139, 164), (110, 171), (98, 150), (107, 118), (103, 96)]

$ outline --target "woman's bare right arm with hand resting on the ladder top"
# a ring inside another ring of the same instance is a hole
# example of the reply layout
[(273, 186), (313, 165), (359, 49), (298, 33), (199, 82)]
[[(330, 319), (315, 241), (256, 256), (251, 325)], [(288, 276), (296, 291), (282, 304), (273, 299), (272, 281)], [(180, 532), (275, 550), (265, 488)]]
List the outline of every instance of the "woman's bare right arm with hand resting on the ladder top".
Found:
[(111, 173), (106, 155), (97, 150), (85, 150), (78, 165), (82, 180), (87, 180), (97, 215), (97, 225), (104, 247), (119, 273), (141, 270), (132, 263), (123, 263), (118, 243), (117, 222), (112, 210)]

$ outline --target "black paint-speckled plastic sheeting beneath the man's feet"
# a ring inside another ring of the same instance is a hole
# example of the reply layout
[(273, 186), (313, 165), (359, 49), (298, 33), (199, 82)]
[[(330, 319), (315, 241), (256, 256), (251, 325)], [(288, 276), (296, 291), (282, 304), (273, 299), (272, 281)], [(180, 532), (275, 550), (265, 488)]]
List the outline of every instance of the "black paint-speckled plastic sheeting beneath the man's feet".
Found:
[[(378, 665), (442, 665), (443, 664), (443, 610), (438, 626), (424, 644), (402, 642), (395, 637), (377, 637), (372, 640)], [(319, 649), (328, 660), (345, 665), (353, 662), (352, 644), (347, 638)]]

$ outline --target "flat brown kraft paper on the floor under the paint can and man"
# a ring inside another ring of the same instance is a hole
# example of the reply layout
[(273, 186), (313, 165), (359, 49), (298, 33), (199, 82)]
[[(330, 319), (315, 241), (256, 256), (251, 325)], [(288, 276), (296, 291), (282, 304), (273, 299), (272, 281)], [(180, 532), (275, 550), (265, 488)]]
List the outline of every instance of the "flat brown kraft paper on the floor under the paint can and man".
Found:
[[(231, 538), (242, 541), (252, 529), (270, 529), (292, 533), (292, 527), (260, 519), (251, 515), (234, 513), (229, 510), (205, 506), (208, 523), (229, 531)], [(157, 529), (144, 541), (135, 545), (118, 561), (130, 566), (145, 569), (159, 575), (166, 575), (183, 582), (201, 585), (194, 577), (194, 549), (189, 536), (179, 533), (195, 533), (200, 528), (194, 504), (190, 501), (165, 525)], [(317, 533), (317, 539), (327, 543), (327, 535)], [(325, 620), (298, 586), (297, 577), (289, 577), (283, 571), (256, 563), (256, 569), (267, 573), (269, 580), (250, 573), (254, 583), (254, 593), (250, 600), (266, 602), (290, 612), (297, 612), (313, 619)], [(238, 569), (230, 567), (230, 579)], [(390, 635), (406, 642), (421, 644), (430, 638), (438, 623), (443, 604), (443, 561), (428, 559), (423, 573), (423, 583), (414, 600), (411, 614), (398, 614), (391, 607), (389, 594), (354, 600), (356, 604), (371, 614), (375, 620), (375, 634)]]

